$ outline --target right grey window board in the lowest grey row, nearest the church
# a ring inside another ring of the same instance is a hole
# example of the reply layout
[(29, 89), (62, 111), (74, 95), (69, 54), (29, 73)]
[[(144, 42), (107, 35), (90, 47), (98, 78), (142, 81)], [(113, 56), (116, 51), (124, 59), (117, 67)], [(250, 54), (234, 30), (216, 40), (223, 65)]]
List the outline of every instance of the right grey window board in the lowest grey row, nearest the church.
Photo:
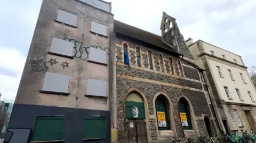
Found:
[(107, 97), (106, 81), (88, 78), (86, 95)]

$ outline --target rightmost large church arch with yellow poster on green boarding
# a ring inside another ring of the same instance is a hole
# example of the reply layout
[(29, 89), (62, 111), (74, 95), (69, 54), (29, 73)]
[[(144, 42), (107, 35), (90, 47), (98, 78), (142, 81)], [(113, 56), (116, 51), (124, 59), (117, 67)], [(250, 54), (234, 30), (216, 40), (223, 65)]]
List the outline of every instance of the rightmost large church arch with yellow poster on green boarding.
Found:
[(179, 112), (182, 128), (185, 130), (191, 130), (191, 116), (190, 108), (187, 100), (185, 98), (180, 98), (179, 100)]

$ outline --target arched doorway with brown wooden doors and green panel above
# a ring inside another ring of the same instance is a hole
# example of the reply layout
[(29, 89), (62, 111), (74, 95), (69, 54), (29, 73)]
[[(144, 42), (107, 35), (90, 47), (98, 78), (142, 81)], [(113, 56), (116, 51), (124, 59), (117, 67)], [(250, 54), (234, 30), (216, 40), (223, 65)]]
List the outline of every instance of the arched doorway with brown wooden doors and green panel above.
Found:
[(137, 92), (131, 92), (125, 100), (125, 115), (128, 129), (128, 142), (148, 142), (146, 115), (143, 99)]

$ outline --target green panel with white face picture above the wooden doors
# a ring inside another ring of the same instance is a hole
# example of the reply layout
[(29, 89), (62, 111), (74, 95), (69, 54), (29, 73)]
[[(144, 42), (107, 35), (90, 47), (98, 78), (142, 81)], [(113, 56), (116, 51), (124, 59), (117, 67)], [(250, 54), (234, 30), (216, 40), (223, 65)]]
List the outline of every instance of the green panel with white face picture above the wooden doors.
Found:
[(145, 119), (144, 103), (126, 101), (125, 114), (126, 119)]

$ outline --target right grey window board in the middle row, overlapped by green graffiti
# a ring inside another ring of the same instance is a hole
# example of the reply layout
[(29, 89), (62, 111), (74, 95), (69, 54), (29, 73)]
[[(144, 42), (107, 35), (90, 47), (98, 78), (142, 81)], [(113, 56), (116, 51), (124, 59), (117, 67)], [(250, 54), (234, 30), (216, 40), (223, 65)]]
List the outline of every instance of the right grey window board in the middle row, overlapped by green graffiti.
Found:
[(107, 64), (107, 52), (101, 49), (90, 47), (89, 61)]

